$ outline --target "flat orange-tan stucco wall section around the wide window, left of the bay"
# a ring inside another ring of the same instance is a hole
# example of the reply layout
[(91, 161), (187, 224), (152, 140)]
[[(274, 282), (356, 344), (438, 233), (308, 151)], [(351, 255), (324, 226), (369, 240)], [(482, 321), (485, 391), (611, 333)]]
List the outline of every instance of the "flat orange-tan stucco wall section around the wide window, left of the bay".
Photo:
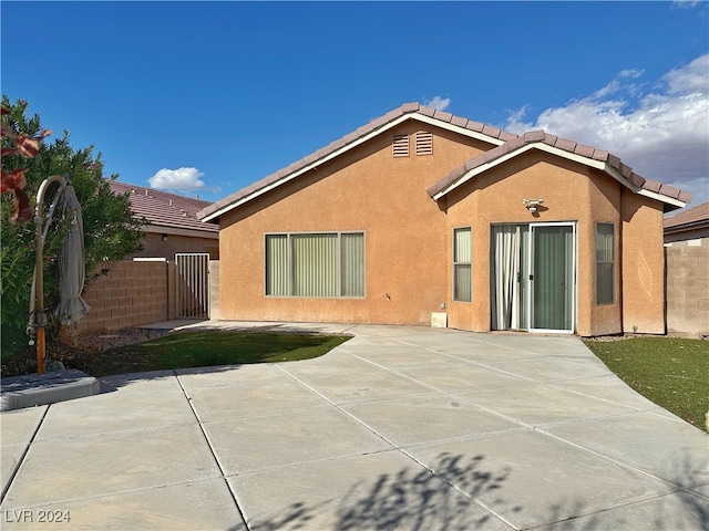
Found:
[[(445, 215), (427, 187), (492, 146), (434, 132), (433, 155), (392, 157), (404, 123), (220, 221), (222, 319), (430, 324), (448, 300)], [(282, 200), (280, 200), (282, 199)], [(264, 235), (364, 231), (363, 299), (266, 298)], [(228, 258), (227, 258), (228, 257)]]

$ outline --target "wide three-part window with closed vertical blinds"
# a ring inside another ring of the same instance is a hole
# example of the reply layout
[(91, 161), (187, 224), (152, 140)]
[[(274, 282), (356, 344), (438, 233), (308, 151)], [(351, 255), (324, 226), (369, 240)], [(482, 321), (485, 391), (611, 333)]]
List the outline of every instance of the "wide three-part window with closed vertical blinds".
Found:
[(266, 295), (364, 296), (364, 233), (266, 235)]

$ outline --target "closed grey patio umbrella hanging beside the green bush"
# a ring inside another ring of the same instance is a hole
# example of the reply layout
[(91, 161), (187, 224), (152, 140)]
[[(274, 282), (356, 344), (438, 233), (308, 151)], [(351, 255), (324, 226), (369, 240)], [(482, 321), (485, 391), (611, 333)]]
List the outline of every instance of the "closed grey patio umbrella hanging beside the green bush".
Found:
[(61, 324), (75, 324), (89, 313), (91, 306), (81, 296), (85, 280), (84, 227), (81, 205), (74, 187), (66, 185), (59, 200), (62, 219), (69, 220), (69, 228), (59, 253), (59, 305), (56, 314)]

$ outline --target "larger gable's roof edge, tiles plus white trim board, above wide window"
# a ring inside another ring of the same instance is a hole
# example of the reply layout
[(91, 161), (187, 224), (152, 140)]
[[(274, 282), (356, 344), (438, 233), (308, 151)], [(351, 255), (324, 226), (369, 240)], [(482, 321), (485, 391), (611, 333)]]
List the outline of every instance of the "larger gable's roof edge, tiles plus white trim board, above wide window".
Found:
[(197, 217), (203, 221), (217, 221), (219, 216), (228, 212), (229, 210), (299, 177), (310, 169), (317, 168), (328, 160), (353, 149), (374, 136), (378, 136), (408, 119), (415, 119), (421, 123), (453, 131), (461, 135), (476, 138), (494, 146), (501, 146), (505, 142), (517, 137), (514, 133), (508, 133), (497, 127), (474, 122), (462, 116), (455, 116), (444, 111), (427, 107), (419, 103), (407, 103), (383, 116), (374, 118), (352, 133), (345, 135), (343, 137), (330, 143), (302, 159), (292, 163), (275, 174), (271, 174), (253, 185), (220, 199), (214, 205), (204, 208), (197, 212)]

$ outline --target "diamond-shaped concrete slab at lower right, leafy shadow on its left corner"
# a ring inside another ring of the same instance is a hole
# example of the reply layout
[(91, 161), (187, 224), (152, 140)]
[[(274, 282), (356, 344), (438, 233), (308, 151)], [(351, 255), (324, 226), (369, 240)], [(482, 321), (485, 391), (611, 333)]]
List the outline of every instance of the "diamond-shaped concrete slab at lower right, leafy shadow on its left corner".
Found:
[[(662, 481), (534, 431), (491, 435), (408, 451), (517, 529), (671, 491)], [(477, 464), (475, 473), (460, 473), (458, 468), (436, 469), (442, 455), (458, 457), (462, 462), (473, 460)]]

